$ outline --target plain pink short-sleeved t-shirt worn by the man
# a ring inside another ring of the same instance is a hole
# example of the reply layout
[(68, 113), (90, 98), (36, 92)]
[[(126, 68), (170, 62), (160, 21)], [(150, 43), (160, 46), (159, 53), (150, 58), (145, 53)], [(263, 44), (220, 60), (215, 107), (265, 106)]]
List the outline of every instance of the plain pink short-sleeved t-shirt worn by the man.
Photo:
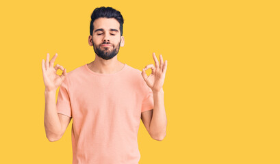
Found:
[(73, 118), (74, 164), (137, 164), (141, 112), (153, 109), (153, 92), (141, 71), (125, 64), (114, 74), (86, 65), (60, 85), (58, 113)]

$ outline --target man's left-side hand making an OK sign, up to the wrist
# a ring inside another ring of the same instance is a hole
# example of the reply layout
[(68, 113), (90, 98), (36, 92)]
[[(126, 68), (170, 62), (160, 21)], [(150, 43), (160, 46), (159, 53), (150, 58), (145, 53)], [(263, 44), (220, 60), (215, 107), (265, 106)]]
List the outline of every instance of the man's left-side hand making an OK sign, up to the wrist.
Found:
[[(55, 67), (53, 67), (56, 57), (58, 57), (57, 53), (55, 53), (51, 61), (49, 61), (49, 53), (47, 53), (46, 61), (42, 59), (42, 75), (44, 78), (44, 86), (46, 87), (45, 91), (47, 92), (56, 91), (67, 76), (66, 69), (62, 66), (56, 64)], [(58, 69), (63, 71), (61, 75), (56, 74)]]

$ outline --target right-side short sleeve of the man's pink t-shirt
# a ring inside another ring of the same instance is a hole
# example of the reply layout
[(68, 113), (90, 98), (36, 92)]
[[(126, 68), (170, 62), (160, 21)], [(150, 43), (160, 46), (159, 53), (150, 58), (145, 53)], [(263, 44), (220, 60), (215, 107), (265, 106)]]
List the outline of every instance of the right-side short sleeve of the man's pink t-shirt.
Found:
[(153, 91), (146, 82), (144, 82), (144, 99), (142, 102), (141, 112), (149, 111), (151, 109), (153, 109)]

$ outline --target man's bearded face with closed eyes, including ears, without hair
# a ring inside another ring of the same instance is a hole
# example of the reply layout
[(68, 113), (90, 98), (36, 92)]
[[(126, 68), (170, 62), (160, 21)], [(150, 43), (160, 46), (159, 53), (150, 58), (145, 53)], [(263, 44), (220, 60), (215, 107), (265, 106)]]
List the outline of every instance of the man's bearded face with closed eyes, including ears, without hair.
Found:
[(102, 59), (112, 59), (118, 54), (120, 46), (125, 44), (120, 36), (120, 24), (114, 18), (98, 18), (93, 22), (92, 36), (88, 43)]

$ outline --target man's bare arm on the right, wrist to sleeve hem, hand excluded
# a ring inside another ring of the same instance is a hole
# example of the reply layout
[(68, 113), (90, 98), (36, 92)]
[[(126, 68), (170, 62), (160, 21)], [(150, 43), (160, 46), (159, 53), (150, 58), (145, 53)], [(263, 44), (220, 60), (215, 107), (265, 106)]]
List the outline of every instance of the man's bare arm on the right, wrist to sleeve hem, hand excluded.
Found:
[(162, 141), (166, 136), (166, 112), (164, 109), (164, 92), (153, 92), (154, 109), (141, 113), (141, 119), (150, 136)]

